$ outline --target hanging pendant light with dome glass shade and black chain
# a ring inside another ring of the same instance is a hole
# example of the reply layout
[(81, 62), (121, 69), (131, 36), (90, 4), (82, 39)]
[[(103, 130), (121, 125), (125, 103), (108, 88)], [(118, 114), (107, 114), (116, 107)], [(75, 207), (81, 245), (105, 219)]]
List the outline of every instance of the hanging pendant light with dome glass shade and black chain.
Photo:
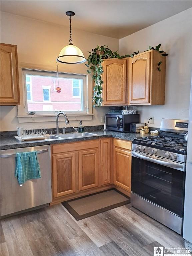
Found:
[(70, 39), (69, 45), (65, 46), (57, 58), (58, 62), (66, 63), (66, 64), (79, 64), (86, 61), (86, 58), (83, 56), (82, 51), (75, 45), (72, 44), (71, 39), (71, 16), (74, 16), (75, 13), (68, 11), (66, 15), (69, 16), (69, 25), (70, 25)]

